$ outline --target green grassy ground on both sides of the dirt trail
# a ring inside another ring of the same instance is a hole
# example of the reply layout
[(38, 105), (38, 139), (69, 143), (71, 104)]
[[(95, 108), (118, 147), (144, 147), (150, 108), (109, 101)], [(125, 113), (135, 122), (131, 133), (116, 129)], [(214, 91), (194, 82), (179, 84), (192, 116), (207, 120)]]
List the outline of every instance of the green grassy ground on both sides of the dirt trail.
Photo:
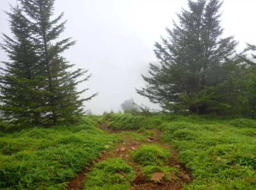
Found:
[[(0, 134), (0, 190), (61, 190), (119, 137), (84, 118), (76, 126)], [(256, 121), (199, 116), (107, 114), (111, 128), (159, 128), (192, 174), (185, 190), (256, 189)], [(42, 182), (43, 181), (43, 182)]]

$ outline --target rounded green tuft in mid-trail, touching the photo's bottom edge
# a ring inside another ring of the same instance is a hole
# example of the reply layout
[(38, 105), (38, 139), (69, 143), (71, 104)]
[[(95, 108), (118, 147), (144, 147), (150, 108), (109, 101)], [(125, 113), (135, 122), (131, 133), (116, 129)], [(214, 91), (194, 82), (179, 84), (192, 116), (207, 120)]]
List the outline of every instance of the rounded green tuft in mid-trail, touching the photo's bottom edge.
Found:
[(96, 164), (86, 175), (84, 190), (129, 190), (133, 175), (132, 168), (121, 158), (111, 158)]

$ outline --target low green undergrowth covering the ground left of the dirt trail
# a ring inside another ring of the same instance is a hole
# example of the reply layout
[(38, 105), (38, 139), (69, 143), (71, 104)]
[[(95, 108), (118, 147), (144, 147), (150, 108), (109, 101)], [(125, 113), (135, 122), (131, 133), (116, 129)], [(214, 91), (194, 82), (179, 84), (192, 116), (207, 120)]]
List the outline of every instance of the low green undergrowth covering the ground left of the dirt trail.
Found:
[(64, 190), (68, 179), (118, 139), (99, 129), (95, 117), (79, 125), (2, 133), (0, 190)]

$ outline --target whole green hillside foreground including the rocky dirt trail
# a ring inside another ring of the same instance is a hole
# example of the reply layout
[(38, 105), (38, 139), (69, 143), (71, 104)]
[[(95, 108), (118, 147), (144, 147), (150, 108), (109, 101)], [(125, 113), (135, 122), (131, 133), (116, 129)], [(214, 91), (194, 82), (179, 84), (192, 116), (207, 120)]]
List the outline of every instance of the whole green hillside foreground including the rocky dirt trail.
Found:
[(244, 118), (105, 114), (0, 133), (0, 190), (255, 190), (255, 169)]

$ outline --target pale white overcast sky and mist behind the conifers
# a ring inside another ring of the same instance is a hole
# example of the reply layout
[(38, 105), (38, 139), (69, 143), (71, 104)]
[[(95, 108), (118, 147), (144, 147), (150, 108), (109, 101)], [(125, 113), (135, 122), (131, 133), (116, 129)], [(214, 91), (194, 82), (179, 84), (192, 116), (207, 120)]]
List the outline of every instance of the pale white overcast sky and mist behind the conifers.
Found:
[[(7, 35), (8, 18), (3, 10), (8, 11), (9, 4), (15, 5), (16, 0), (0, 0), (0, 32)], [(56, 15), (64, 12), (68, 20), (61, 37), (77, 40), (64, 56), (92, 73), (91, 80), (79, 89), (90, 88), (84, 96), (100, 92), (85, 103), (87, 109), (93, 114), (118, 111), (130, 98), (154, 107), (137, 95), (135, 87), (146, 85), (140, 74), (146, 74), (148, 63), (156, 61), (154, 43), (165, 36), (165, 27), (172, 28), (175, 12), (182, 7), (187, 7), (187, 0), (55, 0)], [(256, 44), (256, 0), (224, 0), (221, 11), (224, 36), (235, 36), (238, 51), (246, 42)], [(0, 50), (0, 61), (4, 60), (6, 54)]]

